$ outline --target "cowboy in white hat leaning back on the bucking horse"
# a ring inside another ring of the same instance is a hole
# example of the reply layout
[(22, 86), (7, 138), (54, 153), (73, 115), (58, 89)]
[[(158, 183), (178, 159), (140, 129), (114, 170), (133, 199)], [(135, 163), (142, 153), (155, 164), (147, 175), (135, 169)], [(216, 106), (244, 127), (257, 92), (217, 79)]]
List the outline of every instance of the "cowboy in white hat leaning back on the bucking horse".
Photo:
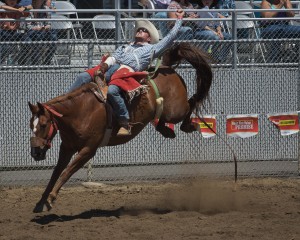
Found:
[[(106, 79), (107, 76), (110, 77), (120, 65), (126, 65), (127, 68), (131, 68), (132, 71), (145, 71), (149, 67), (152, 59), (159, 57), (174, 42), (182, 25), (183, 15), (183, 10), (178, 9), (176, 12), (177, 20), (174, 27), (161, 41), (159, 41), (157, 29), (151, 22), (148, 20), (136, 21), (135, 41), (129, 45), (118, 47), (105, 62), (81, 73), (70, 90), (74, 90), (82, 84), (92, 81), (94, 73), (97, 70), (101, 70), (103, 74), (107, 71)], [(117, 135), (130, 135), (129, 112), (122, 96), (122, 90), (116, 85), (109, 84), (107, 99), (112, 105), (120, 125)]]

